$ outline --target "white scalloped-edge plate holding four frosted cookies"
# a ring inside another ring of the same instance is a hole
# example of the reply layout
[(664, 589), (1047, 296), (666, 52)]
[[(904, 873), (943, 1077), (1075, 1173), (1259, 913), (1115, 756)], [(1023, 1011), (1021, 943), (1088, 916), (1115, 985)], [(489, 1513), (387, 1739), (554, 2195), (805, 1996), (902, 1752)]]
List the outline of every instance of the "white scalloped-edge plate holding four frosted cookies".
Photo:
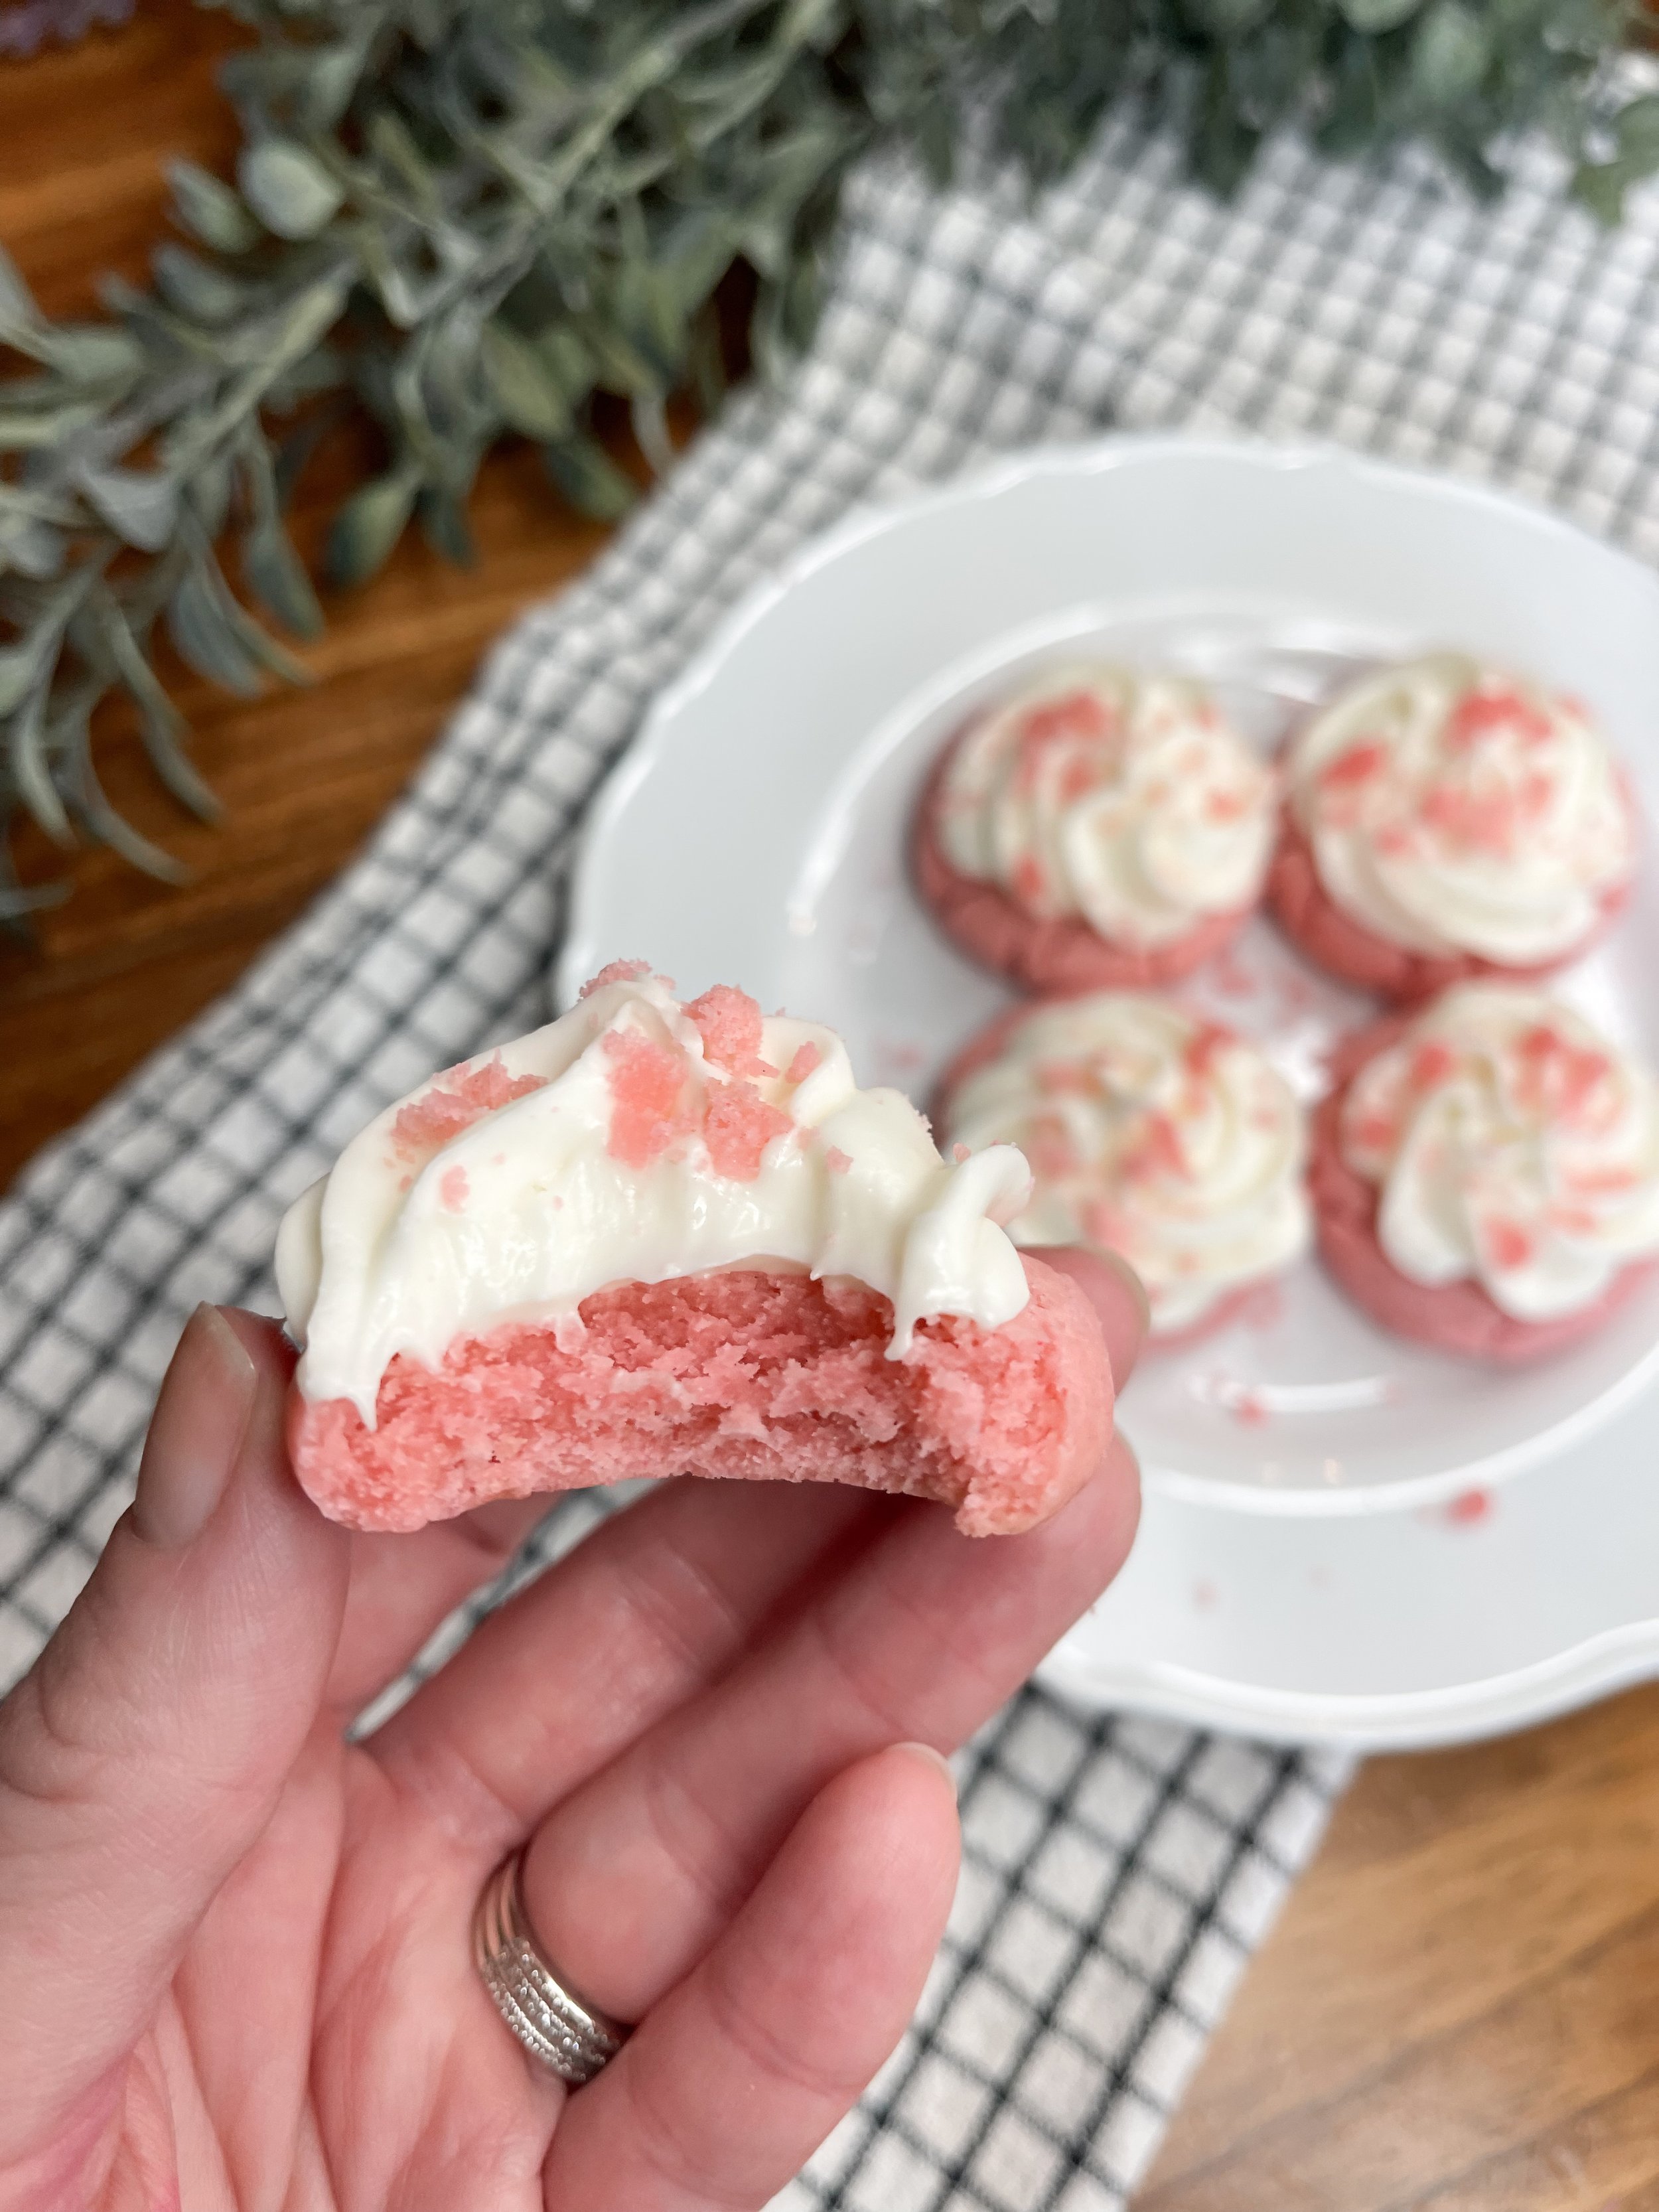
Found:
[[(902, 865), (916, 785), (975, 697), (1057, 648), (1139, 653), (1210, 675), (1270, 743), (1345, 666), (1438, 641), (1588, 697), (1655, 814), (1659, 580), (1520, 500), (1338, 451), (1104, 440), (854, 515), (655, 703), (593, 812), (562, 998), (617, 956), (686, 991), (739, 982), (834, 1022), (865, 1079), (925, 1099), (1006, 1004)], [(1566, 991), (1659, 1055), (1655, 876)], [(1365, 1013), (1265, 922), (1203, 995), (1305, 1093)], [(1141, 1542), (1051, 1679), (1374, 1743), (1520, 1725), (1646, 1672), (1657, 1371), (1659, 1285), (1584, 1349), (1504, 1376), (1371, 1329), (1298, 1270), (1126, 1391)], [(1447, 1517), (1498, 1482), (1480, 1520)]]

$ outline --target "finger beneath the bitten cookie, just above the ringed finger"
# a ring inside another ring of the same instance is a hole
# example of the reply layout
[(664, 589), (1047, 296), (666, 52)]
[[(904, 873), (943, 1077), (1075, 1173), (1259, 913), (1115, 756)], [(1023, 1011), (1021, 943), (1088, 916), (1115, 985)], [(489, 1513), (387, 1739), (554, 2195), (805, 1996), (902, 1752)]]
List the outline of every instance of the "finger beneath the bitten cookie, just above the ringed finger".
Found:
[(427, 1812), (500, 1854), (891, 1517), (867, 1491), (664, 1484), (491, 1615), (369, 1750)]

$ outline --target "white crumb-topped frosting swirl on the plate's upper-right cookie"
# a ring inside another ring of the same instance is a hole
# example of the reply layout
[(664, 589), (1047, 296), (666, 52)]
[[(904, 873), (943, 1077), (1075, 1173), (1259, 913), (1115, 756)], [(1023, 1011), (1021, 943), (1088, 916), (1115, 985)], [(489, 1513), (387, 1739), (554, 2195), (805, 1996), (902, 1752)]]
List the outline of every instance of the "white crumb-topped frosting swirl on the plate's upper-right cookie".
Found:
[(1292, 741), (1287, 779), (1327, 896), (1407, 951), (1555, 960), (1635, 867), (1588, 710), (1460, 653), (1349, 686)]

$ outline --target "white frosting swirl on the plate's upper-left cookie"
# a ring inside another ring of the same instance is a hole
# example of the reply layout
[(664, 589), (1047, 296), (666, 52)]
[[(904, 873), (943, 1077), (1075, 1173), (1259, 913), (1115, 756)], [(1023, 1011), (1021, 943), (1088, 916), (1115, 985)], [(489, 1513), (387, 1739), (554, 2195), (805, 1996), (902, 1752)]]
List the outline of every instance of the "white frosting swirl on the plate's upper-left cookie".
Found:
[(1276, 801), (1274, 770), (1203, 684), (1091, 661), (1046, 670), (969, 726), (936, 838), (1033, 920), (1157, 947), (1261, 896)]

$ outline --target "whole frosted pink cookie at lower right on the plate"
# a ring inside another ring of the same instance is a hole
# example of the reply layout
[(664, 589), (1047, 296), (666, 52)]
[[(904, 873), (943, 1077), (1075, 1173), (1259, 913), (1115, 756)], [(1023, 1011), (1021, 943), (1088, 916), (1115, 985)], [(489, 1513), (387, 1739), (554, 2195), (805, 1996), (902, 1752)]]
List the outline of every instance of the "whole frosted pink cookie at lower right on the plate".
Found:
[(1464, 982), (1345, 1040), (1314, 1115), (1318, 1250), (1356, 1305), (1469, 1358), (1544, 1358), (1659, 1261), (1659, 1086), (1573, 1009)]

